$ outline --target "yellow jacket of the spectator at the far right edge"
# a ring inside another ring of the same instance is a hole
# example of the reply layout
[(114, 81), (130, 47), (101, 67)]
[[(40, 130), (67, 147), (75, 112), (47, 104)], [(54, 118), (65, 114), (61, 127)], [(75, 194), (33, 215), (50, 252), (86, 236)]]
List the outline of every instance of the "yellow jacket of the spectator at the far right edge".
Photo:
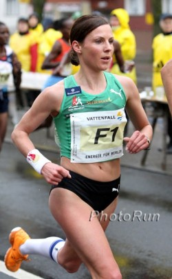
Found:
[(153, 77), (152, 87), (162, 86), (160, 70), (172, 58), (172, 34), (158, 34), (153, 38)]

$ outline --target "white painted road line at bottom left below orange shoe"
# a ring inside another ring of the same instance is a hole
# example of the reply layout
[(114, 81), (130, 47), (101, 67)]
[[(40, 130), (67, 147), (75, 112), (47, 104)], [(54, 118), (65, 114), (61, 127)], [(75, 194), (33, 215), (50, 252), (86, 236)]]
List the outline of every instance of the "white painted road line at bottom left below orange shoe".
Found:
[(6, 265), (5, 263), (3, 263), (2, 260), (0, 260), (0, 272), (2, 272), (3, 274), (7, 274), (8, 276), (12, 276), (12, 278), (16, 279), (43, 279), (42, 277), (30, 274), (29, 272), (24, 271), (23, 269), (19, 269), (17, 272), (11, 272), (8, 269), (6, 269)]

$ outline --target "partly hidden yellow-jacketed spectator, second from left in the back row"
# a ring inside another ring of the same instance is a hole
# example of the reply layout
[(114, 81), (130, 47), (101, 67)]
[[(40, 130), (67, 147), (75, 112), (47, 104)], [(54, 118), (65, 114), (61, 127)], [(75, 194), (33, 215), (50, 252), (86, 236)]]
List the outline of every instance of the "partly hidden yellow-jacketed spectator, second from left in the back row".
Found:
[(28, 23), (29, 31), (34, 36), (34, 39), (43, 33), (43, 25), (39, 22), (39, 16), (36, 12), (30, 14), (28, 17)]

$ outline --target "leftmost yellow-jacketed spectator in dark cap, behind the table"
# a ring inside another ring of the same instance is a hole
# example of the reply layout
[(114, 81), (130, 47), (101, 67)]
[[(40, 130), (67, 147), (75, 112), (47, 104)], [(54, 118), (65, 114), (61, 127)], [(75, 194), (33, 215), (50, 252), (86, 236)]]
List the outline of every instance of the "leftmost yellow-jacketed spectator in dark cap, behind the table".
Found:
[(17, 54), (24, 71), (36, 71), (36, 44), (29, 32), (28, 19), (20, 18), (17, 32), (10, 36), (10, 47)]

